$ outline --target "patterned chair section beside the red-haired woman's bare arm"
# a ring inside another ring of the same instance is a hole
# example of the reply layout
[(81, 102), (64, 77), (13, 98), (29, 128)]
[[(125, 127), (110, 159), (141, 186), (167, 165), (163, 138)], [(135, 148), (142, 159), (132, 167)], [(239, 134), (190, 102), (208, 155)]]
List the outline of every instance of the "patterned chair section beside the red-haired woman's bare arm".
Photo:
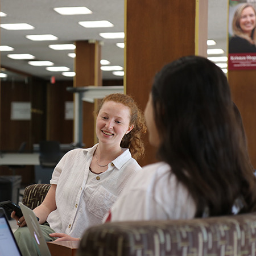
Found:
[(24, 190), (22, 203), (30, 209), (35, 209), (38, 205), (42, 204), (50, 187), (51, 184), (33, 184), (27, 186)]

